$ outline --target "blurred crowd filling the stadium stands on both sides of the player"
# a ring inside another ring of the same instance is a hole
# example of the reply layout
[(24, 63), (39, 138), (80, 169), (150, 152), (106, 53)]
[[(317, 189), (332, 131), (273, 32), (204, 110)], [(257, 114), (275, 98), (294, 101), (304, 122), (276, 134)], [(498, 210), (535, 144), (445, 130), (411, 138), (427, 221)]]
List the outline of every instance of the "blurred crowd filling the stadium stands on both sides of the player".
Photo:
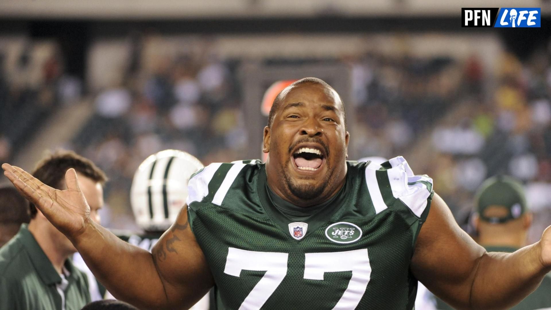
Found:
[[(145, 157), (175, 148), (209, 164), (242, 159), (241, 151), (250, 147), (237, 73), (246, 60), (221, 57), (208, 44), (188, 51), (148, 52), (152, 46), (163, 50), (162, 36), (125, 40), (131, 42), (126, 63), (111, 68), (115, 73), (106, 74), (109, 86), (100, 88), (83, 87), (64, 72), (55, 42), (18, 38), (15, 41), (24, 42), (18, 45), (22, 49), (4, 45), (0, 161), (12, 160), (25, 143), (21, 137), (39, 130), (56, 109), (91, 98), (93, 116), (66, 147), (90, 158), (111, 179), (106, 202), (122, 209), (106, 208), (110, 214), (104, 216), (104, 225), (135, 229), (128, 193)], [(536, 218), (548, 223), (549, 52), (535, 51), (520, 61), (503, 50), (494, 67), (485, 66), (476, 54), (458, 59), (417, 57), (407, 51), (287, 61), (348, 65), (354, 104), (348, 114), (356, 118), (353, 138), (361, 146), (359, 152), (386, 158), (403, 154), (416, 172), (434, 179), (436, 191), (458, 221), (466, 224), (474, 190), (485, 178), (510, 174), (526, 185)], [(539, 238), (541, 230), (535, 230), (532, 237)]]

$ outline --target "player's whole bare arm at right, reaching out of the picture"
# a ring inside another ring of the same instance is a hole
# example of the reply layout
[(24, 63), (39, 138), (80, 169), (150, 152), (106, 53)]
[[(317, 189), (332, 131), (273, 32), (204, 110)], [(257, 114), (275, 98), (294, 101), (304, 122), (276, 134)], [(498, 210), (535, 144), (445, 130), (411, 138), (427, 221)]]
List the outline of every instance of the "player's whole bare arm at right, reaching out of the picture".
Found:
[(537, 288), (551, 271), (551, 229), (515, 253), (487, 253), (457, 225), (438, 195), (415, 245), (413, 274), (431, 292), (460, 309), (507, 309)]

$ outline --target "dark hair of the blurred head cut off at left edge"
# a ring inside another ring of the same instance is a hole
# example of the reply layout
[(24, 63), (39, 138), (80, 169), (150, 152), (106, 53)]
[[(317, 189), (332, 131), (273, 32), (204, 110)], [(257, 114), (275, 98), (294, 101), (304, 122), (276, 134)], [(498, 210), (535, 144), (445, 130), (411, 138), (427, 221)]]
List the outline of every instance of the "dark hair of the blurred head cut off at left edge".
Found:
[(29, 202), (11, 185), (0, 187), (0, 223), (28, 223)]

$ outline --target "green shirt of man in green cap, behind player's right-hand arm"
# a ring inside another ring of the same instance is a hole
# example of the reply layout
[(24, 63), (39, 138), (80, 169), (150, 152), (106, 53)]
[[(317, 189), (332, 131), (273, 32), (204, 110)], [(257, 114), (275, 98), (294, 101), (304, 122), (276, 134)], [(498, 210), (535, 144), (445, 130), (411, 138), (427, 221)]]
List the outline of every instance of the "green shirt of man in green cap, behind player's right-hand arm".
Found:
[[(517, 249), (507, 248), (507, 247), (484, 247), (488, 252), (506, 252), (512, 253)], [(449, 310), (453, 309), (448, 304), (436, 298), (436, 308), (439, 310)], [(551, 274), (545, 276), (542, 280), (542, 283), (539, 285), (536, 290), (524, 298), (519, 304), (515, 307), (512, 307), (511, 310), (547, 310), (551, 309)]]

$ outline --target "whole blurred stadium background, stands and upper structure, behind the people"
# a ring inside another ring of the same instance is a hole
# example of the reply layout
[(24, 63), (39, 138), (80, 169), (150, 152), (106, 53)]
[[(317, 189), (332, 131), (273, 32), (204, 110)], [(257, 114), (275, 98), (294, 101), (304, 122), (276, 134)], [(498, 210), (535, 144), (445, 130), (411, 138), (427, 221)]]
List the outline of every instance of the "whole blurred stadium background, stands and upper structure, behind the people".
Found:
[(261, 157), (262, 89), (315, 75), (346, 100), (350, 159), (403, 155), (462, 224), (485, 178), (514, 175), (534, 241), (551, 222), (551, 4), (522, 6), (541, 29), (462, 29), (433, 0), (0, 2), (0, 161), (75, 149), (111, 178), (104, 224), (136, 228), (144, 158)]

